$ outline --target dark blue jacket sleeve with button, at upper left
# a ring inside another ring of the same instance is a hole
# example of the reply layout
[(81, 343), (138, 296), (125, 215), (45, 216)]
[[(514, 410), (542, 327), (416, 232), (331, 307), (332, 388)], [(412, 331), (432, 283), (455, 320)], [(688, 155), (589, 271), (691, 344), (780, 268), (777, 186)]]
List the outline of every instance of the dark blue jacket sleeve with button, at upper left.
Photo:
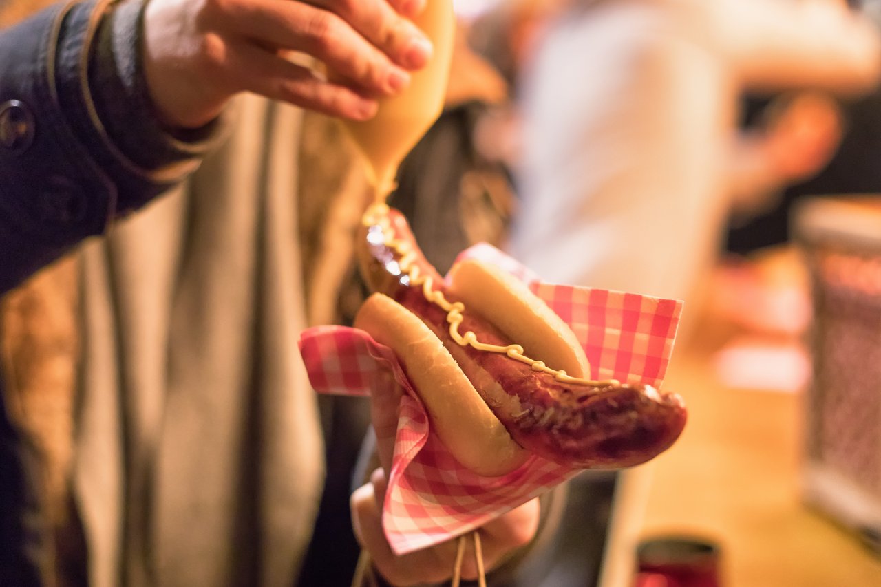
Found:
[(0, 294), (181, 182), (216, 142), (163, 129), (142, 2), (56, 5), (0, 31)]

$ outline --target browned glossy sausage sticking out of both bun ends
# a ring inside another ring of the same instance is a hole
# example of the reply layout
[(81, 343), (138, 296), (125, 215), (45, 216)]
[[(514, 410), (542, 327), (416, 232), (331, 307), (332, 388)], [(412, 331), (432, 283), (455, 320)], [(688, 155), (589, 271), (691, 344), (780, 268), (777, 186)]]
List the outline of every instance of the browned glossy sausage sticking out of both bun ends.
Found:
[[(360, 238), (361, 268), (368, 285), (417, 315), (443, 341), (492, 412), (523, 448), (559, 464), (578, 468), (620, 468), (648, 461), (676, 441), (685, 427), (685, 405), (676, 394), (642, 384), (561, 383), (553, 375), (502, 353), (463, 346), (449, 331), (447, 312), (426, 299), (402, 271), (401, 255), (389, 245), (407, 243), (418, 272), (432, 278), (431, 289), (455, 302), (429, 264), (403, 215), (389, 209), (385, 226), (367, 224)], [(488, 344), (512, 342), (481, 316), (463, 312), (461, 332), (473, 331)]]

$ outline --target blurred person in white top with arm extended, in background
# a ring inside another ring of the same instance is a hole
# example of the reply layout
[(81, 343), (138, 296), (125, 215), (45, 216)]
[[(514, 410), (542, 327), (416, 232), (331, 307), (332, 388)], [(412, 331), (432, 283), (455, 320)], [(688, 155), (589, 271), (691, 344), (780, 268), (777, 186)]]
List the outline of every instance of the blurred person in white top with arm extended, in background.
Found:
[(875, 28), (837, 1), (569, 3), (522, 77), (515, 256), (553, 281), (695, 299), (735, 196), (760, 206), (840, 137), (819, 97), (741, 136), (744, 90), (855, 95), (879, 66)]

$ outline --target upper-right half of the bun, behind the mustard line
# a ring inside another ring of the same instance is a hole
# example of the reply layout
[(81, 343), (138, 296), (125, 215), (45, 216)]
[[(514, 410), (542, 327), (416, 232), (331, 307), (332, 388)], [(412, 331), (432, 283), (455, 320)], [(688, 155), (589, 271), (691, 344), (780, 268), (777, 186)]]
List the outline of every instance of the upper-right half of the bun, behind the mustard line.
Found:
[(523, 347), (530, 359), (574, 377), (588, 377), (588, 358), (569, 326), (520, 279), (476, 259), (450, 270), (449, 291)]

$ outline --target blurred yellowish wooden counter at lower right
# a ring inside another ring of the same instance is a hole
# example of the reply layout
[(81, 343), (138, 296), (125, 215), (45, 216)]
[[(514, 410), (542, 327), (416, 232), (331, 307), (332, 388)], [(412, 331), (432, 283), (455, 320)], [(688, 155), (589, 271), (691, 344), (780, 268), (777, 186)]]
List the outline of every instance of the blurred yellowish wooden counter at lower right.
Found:
[(881, 585), (881, 558), (800, 502), (802, 396), (722, 387), (717, 347), (699, 339), (674, 353), (664, 387), (685, 397), (689, 423), (655, 459), (640, 534), (716, 539), (724, 587)]

